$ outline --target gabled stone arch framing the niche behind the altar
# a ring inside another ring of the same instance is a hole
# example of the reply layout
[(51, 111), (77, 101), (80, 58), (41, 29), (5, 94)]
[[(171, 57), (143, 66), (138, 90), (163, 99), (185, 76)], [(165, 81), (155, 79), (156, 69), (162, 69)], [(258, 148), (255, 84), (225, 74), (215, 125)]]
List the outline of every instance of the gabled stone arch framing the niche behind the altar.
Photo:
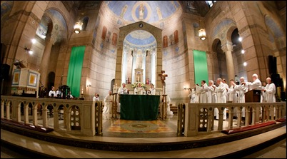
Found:
[[(155, 26), (152, 26), (151, 24), (147, 24), (144, 21), (138, 21), (134, 24), (129, 24), (127, 26), (122, 26), (119, 28), (119, 39), (118, 39), (118, 46), (117, 46), (117, 56), (116, 56), (116, 78), (115, 83), (121, 83), (121, 62), (122, 62), (122, 53), (123, 53), (123, 46), (124, 46), (124, 39), (125, 37), (131, 33), (131, 31), (136, 30), (144, 30), (151, 33), (157, 43), (157, 53), (156, 53), (156, 75), (161, 73), (162, 70), (162, 63), (159, 63), (158, 61), (161, 61), (162, 58), (162, 35), (161, 29), (156, 28)], [(156, 76), (156, 86), (161, 86), (161, 80), (159, 76)]]

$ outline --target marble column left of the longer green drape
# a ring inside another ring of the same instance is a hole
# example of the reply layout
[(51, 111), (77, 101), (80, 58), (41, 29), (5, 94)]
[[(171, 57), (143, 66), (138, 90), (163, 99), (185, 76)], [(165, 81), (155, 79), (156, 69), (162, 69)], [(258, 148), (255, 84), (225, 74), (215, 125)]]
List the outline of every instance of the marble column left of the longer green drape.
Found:
[[(43, 57), (41, 60), (41, 67), (40, 67), (40, 81), (44, 84), (44, 86), (48, 86), (48, 80), (47, 80), (47, 74), (48, 74), (48, 68), (49, 68), (49, 62), (50, 62), (50, 54), (51, 54), (51, 48), (56, 42), (56, 36), (53, 34), (47, 34), (45, 39), (45, 48)], [(49, 88), (48, 88), (49, 89)]]

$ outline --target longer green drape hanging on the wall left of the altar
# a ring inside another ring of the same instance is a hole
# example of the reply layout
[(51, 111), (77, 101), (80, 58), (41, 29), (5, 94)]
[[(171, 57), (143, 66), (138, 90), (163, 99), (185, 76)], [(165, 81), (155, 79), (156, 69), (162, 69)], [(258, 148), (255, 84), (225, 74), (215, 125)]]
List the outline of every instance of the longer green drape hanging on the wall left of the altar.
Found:
[(75, 97), (80, 96), (81, 68), (83, 67), (85, 48), (86, 46), (77, 46), (71, 50), (67, 86), (70, 87), (71, 94)]

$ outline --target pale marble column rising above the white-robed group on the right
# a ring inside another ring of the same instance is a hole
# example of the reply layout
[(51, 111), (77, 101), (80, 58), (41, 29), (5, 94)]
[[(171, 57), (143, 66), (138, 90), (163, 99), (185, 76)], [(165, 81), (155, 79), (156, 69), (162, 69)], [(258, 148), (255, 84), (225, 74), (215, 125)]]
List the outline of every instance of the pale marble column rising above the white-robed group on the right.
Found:
[(232, 43), (227, 41), (226, 43), (221, 45), (221, 49), (224, 51), (226, 55), (226, 68), (228, 76), (228, 79), (226, 79), (226, 81), (228, 82), (229, 80), (235, 78), (234, 64), (232, 58), (232, 51), (233, 51)]

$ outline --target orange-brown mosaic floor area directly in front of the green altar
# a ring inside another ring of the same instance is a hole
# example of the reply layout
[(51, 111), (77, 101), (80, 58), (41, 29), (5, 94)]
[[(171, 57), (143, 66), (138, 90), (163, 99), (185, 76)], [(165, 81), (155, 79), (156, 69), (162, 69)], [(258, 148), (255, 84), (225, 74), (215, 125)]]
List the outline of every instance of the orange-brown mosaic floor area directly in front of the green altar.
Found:
[(161, 120), (115, 120), (108, 132), (114, 133), (173, 133)]

